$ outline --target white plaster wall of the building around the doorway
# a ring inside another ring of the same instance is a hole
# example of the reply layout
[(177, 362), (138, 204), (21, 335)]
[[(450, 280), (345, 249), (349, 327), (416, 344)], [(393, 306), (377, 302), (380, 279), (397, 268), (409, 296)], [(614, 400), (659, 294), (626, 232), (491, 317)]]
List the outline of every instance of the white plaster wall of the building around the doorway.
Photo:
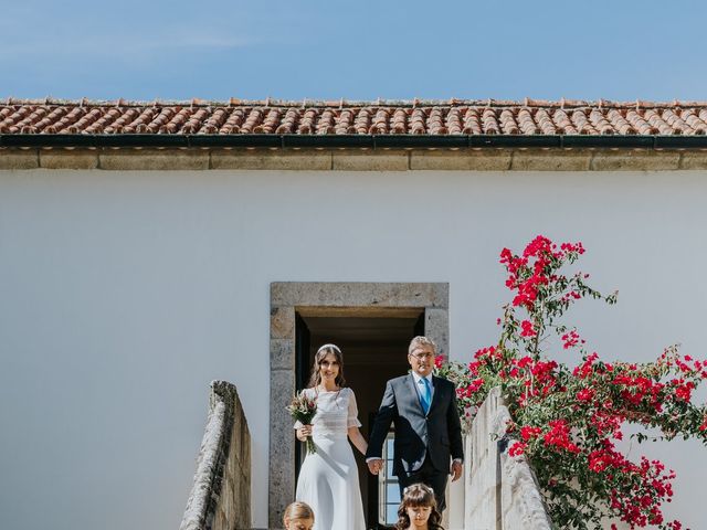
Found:
[[(704, 172), (0, 171), (2, 527), (176, 528), (212, 379), (239, 388), (264, 527), (274, 280), (449, 282), (466, 359), (496, 340), (500, 248), (581, 240), (620, 289), (574, 314), (601, 354), (707, 357), (706, 226)], [(651, 454), (707, 526), (704, 447)]]

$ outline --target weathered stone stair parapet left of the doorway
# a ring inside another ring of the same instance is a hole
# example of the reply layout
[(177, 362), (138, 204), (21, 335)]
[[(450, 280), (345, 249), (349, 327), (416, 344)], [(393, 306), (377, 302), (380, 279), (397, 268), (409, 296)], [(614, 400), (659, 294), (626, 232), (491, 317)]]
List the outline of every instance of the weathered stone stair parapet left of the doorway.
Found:
[(194, 484), (180, 530), (251, 528), (251, 434), (235, 386), (213, 381)]

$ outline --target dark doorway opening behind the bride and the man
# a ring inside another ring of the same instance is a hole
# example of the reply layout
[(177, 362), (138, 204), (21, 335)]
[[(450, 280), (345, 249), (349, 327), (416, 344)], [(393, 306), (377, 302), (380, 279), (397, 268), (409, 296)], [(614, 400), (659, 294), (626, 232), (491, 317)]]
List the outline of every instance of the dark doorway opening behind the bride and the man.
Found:
[[(344, 354), (347, 384), (356, 393), (358, 418), (363, 424), (361, 434), (368, 441), (386, 381), (407, 373), (408, 344), (416, 335), (424, 335), (424, 309), (302, 308), (296, 311), (295, 324), (297, 390), (307, 385), (319, 346), (337, 344)], [(295, 449), (297, 476), (304, 459), (300, 445), (296, 444)], [(379, 479), (368, 473), (366, 458), (351, 447), (358, 464), (367, 528), (390, 528), (379, 524)]]

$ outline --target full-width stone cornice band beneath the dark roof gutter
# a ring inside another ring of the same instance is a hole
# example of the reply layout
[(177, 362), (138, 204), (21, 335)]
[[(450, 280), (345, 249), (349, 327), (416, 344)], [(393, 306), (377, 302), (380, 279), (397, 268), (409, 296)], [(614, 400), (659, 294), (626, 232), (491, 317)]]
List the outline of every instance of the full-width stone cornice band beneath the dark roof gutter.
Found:
[(0, 148), (0, 170), (675, 171), (707, 169), (699, 149)]

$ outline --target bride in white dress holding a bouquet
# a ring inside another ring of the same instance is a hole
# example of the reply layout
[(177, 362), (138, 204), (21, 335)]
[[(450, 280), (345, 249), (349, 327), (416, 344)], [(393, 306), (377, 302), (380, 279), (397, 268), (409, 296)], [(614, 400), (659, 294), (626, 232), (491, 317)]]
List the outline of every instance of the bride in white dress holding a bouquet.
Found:
[(305, 390), (316, 400), (317, 414), (312, 425), (295, 424), (297, 438), (312, 436), (317, 447), (302, 465), (296, 492), (296, 499), (314, 510), (314, 530), (366, 530), (358, 468), (347, 436), (363, 455), (368, 444), (358, 430), (356, 396), (345, 384), (341, 350), (324, 344)]

